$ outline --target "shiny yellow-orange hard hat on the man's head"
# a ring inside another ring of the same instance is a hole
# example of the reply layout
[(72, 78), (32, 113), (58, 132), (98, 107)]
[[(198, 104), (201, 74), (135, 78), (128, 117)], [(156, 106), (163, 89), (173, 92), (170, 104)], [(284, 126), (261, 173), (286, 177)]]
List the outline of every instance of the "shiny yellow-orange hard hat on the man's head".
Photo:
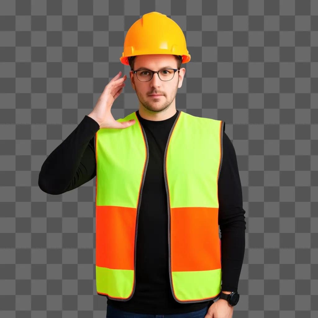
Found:
[(181, 63), (187, 63), (191, 59), (179, 25), (156, 11), (144, 14), (129, 28), (120, 61), (129, 65), (128, 57), (144, 54), (180, 55)]

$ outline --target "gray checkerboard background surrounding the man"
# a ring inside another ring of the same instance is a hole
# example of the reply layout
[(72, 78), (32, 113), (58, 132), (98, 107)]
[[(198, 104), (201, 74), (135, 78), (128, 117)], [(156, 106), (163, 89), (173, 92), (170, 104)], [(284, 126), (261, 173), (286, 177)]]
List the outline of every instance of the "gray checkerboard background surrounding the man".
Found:
[[(224, 120), (236, 150), (247, 229), (233, 317), (318, 317), (316, 0), (1, 0), (0, 316), (106, 316), (95, 178), (54, 196), (38, 173), (108, 81), (129, 74), (126, 32), (151, 11), (187, 39), (176, 108)], [(126, 83), (112, 113), (137, 109)]]

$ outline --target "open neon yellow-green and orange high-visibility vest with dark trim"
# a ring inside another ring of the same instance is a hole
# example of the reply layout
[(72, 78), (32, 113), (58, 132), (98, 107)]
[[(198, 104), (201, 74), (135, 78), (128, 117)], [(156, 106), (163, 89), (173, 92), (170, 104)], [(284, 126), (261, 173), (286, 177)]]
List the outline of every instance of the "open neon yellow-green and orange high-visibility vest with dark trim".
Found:
[[(131, 119), (135, 124), (128, 128), (101, 128), (95, 135), (96, 289), (118, 301), (135, 292), (138, 213), (149, 159), (136, 112), (117, 121)], [(169, 279), (179, 303), (215, 300), (221, 292), (218, 177), (224, 125), (180, 111), (168, 137), (163, 174)]]

